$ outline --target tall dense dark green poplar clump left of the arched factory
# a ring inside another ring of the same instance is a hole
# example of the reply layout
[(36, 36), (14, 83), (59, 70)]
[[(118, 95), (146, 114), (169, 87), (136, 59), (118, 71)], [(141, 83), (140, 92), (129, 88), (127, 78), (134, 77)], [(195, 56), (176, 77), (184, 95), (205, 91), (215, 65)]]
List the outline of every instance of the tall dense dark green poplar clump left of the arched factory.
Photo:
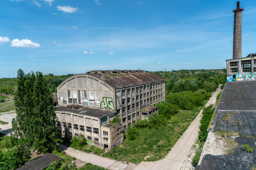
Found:
[(52, 94), (41, 72), (17, 75), (17, 91), (14, 96), (16, 119), (12, 120), (11, 139), (46, 153), (56, 149), (58, 142), (56, 114)]

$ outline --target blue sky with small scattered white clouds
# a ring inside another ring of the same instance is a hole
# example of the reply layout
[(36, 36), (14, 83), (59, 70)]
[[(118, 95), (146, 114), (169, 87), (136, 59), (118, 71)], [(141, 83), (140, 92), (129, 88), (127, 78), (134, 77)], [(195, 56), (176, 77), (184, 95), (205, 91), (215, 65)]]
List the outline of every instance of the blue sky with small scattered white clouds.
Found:
[[(223, 69), (233, 0), (1, 0), (0, 78), (40, 71)], [(256, 53), (256, 1), (240, 1), (242, 57)]]

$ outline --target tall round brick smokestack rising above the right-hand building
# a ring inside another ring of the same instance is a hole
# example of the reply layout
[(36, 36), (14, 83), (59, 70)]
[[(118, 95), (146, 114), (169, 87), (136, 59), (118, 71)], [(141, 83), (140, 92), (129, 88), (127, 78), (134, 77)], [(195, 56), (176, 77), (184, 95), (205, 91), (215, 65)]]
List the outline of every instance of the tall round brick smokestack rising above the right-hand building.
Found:
[(242, 58), (242, 11), (240, 2), (237, 2), (237, 9), (234, 17), (234, 41), (233, 41), (233, 59)]

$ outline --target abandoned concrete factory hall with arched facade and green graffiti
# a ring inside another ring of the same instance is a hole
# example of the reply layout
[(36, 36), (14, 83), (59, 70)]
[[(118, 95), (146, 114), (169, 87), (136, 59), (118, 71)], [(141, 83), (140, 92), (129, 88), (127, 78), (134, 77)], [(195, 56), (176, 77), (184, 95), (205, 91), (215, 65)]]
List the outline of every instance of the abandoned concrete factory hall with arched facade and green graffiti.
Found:
[[(165, 101), (165, 82), (141, 70), (91, 71), (69, 77), (57, 87), (59, 132), (84, 134), (88, 143), (112, 149), (123, 130), (138, 119), (158, 113)], [(118, 115), (121, 122), (110, 123)]]

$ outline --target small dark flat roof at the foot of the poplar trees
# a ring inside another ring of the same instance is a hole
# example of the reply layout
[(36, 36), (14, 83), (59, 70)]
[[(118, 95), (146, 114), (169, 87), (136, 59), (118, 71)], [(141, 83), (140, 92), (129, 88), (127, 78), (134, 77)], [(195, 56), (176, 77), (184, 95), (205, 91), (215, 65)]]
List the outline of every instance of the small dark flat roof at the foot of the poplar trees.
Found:
[(44, 169), (47, 166), (49, 166), (54, 161), (59, 161), (62, 158), (59, 156), (56, 156), (54, 154), (46, 153), (42, 156), (39, 156), (27, 163), (25, 163), (20, 168), (17, 168), (19, 170), (35, 170), (35, 169)]

